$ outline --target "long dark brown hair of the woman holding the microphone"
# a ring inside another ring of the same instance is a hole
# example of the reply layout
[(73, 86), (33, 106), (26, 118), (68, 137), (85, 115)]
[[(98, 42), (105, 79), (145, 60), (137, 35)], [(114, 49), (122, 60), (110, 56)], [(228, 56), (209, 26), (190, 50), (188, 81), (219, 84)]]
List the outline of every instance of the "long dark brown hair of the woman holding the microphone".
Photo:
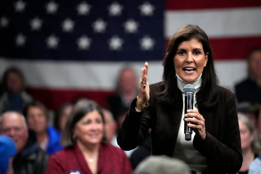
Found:
[(197, 103), (200, 102), (203, 106), (212, 107), (217, 102), (217, 89), (219, 83), (214, 67), (213, 51), (206, 33), (199, 26), (191, 24), (181, 27), (168, 41), (166, 55), (162, 62), (164, 67), (162, 75), (164, 90), (160, 93), (161, 99), (171, 100), (170, 97), (173, 96), (173, 93), (177, 88), (174, 56), (176, 55), (180, 43), (191, 39), (197, 39), (197, 41), (201, 42), (205, 55), (208, 53), (208, 61), (201, 76), (201, 90), (204, 90), (204, 92), (200, 93), (202, 96), (197, 97)]

